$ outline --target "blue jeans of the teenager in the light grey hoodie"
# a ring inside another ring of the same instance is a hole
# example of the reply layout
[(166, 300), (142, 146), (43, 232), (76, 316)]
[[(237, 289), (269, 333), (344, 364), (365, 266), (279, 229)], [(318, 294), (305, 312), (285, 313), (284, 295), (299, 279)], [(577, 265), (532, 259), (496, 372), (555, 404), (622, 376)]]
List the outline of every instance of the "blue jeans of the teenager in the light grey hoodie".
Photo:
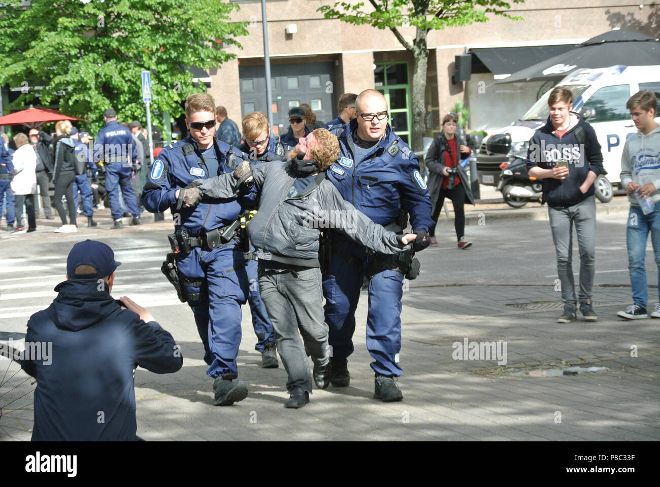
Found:
[[(646, 308), (649, 292), (646, 282), (646, 242), (651, 234), (651, 244), (655, 254), (655, 265), (658, 266), (660, 284), (660, 209), (644, 214), (638, 206), (630, 205), (628, 213), (628, 230), (626, 244), (628, 245), (628, 273), (632, 287), (632, 300), (637, 306)], [(660, 287), (658, 288), (660, 293)], [(658, 298), (660, 302), (660, 297)]]

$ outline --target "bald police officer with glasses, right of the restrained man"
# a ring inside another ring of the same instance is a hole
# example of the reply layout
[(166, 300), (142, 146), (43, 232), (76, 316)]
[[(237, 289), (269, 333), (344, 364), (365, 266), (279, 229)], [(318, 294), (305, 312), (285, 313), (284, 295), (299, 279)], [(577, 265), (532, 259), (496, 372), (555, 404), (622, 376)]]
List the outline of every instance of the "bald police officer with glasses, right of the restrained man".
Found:
[[(431, 200), (419, 173), (419, 163), (387, 123), (387, 102), (376, 90), (365, 90), (356, 100), (358, 117), (333, 131), (339, 137), (341, 154), (327, 171), (344, 199), (387, 230), (401, 232), (407, 215), (417, 234), (414, 251), (430, 243)], [(325, 244), (323, 275), (325, 321), (329, 326), (331, 384), (350, 382), (347, 357), (353, 352), (355, 309), (364, 276), (369, 279), (367, 349), (374, 358), (374, 399), (399, 401), (403, 394), (396, 378), (401, 350), (401, 298), (403, 277), (414, 278), (418, 261), (411, 253), (389, 257), (369, 253), (331, 232)]]

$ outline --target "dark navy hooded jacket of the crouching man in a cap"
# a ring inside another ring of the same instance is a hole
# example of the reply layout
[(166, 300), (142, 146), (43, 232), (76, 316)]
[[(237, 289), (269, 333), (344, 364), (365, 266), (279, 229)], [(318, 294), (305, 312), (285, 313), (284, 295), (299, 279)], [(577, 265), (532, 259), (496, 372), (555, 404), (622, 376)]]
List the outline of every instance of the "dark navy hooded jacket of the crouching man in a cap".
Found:
[(52, 343), (48, 361), (22, 362), (37, 379), (32, 441), (135, 441), (135, 368), (177, 372), (183, 357), (172, 335), (121, 309), (96, 278), (67, 280), (55, 291), (25, 337), (26, 346)]

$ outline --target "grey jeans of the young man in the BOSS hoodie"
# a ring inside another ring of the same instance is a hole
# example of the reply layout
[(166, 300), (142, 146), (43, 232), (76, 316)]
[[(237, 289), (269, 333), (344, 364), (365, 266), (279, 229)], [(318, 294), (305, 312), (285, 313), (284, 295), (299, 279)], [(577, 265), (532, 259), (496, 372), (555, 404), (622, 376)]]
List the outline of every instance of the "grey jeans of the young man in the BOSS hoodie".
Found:
[(577, 307), (573, 276), (573, 225), (578, 234), (579, 300), (591, 299), (596, 268), (596, 199), (590, 196), (565, 209), (548, 207), (552, 240), (557, 252), (557, 274), (562, 284), (564, 305)]

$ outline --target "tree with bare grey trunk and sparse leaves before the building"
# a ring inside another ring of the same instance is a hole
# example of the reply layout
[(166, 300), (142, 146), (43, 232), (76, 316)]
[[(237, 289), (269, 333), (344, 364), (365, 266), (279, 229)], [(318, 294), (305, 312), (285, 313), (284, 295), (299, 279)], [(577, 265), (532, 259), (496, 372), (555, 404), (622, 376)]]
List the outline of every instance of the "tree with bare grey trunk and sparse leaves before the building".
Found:
[[(510, 3), (523, 3), (523, 0), (511, 0)], [(379, 29), (389, 28), (403, 47), (413, 53), (412, 145), (414, 150), (422, 150), (426, 113), (424, 93), (428, 67), (428, 33), (446, 27), (487, 22), (488, 15), (522, 20), (519, 16), (506, 13), (506, 9), (511, 7), (510, 3), (500, 0), (369, 0), (372, 9), (366, 9), (363, 1), (337, 1), (333, 7), (325, 5), (320, 7), (319, 11), (325, 14), (325, 18), (339, 18), (350, 24), (368, 24)], [(416, 28), (412, 44), (399, 32), (401, 26)]]

